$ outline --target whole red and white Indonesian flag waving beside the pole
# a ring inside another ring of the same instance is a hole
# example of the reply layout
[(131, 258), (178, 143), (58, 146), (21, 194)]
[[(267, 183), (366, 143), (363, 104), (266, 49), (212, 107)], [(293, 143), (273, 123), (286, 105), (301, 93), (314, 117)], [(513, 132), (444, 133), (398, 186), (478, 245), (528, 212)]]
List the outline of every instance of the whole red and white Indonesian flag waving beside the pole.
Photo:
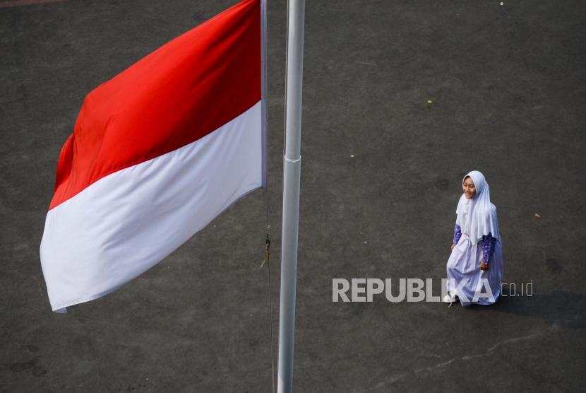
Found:
[(40, 246), (52, 309), (142, 274), (265, 186), (265, 2), (244, 0), (92, 90)]

